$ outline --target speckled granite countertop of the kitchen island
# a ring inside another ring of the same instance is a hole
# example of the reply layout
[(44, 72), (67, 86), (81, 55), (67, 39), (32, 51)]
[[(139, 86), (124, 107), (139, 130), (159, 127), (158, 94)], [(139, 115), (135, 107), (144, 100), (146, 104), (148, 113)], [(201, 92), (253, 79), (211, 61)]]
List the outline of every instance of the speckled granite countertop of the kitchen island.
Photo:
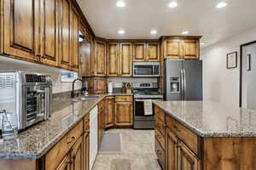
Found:
[(213, 101), (154, 101), (201, 137), (256, 137), (256, 111)]

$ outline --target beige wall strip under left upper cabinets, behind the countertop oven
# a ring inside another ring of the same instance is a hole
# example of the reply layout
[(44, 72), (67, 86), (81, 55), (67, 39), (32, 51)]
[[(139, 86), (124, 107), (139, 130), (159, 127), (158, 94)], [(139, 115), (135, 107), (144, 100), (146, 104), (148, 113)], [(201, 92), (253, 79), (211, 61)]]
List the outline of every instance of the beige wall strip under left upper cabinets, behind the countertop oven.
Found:
[[(72, 82), (61, 82), (61, 72), (63, 70), (44, 65), (37, 65), (18, 59), (9, 59), (0, 56), (0, 71), (28, 71), (48, 74), (53, 81), (53, 93), (67, 92), (72, 90)], [(76, 82), (75, 89), (81, 88), (82, 83)]]

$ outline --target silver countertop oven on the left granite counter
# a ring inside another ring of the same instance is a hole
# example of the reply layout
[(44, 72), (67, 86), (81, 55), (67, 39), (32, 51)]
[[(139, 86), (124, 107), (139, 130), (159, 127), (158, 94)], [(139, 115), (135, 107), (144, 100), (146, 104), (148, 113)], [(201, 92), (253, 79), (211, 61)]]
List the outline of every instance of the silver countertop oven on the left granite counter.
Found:
[(11, 123), (20, 131), (51, 114), (52, 82), (49, 76), (22, 71), (0, 72), (0, 110), (15, 113)]

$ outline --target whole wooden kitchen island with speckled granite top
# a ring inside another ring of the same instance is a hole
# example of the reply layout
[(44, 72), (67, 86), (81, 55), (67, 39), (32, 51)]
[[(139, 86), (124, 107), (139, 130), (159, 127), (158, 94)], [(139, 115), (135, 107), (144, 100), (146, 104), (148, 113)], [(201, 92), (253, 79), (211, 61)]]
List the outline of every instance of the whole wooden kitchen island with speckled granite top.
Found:
[(212, 101), (155, 101), (163, 169), (256, 169), (256, 112)]

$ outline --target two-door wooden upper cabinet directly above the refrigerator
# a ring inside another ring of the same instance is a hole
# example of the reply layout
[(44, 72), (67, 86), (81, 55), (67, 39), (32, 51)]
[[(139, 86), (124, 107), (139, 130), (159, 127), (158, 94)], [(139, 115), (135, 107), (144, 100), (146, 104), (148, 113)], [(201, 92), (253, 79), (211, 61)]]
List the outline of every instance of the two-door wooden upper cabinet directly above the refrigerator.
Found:
[(200, 37), (167, 37), (162, 40), (164, 59), (199, 59)]

